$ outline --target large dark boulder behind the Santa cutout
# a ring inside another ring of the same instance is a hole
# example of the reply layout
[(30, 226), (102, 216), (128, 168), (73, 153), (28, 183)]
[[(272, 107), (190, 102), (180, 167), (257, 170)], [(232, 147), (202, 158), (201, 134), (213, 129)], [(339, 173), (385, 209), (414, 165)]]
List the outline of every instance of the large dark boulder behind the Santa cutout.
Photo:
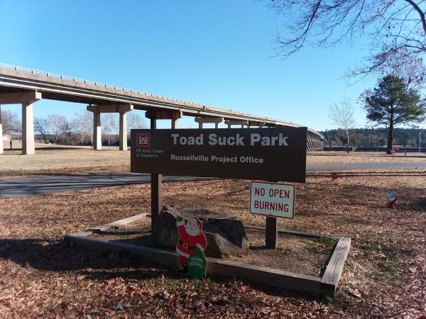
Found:
[(153, 241), (160, 247), (175, 249), (179, 240), (176, 217), (187, 220), (197, 216), (203, 223), (207, 257), (221, 258), (223, 254), (241, 254), (249, 249), (244, 225), (239, 218), (225, 213), (214, 213), (204, 208), (180, 209), (164, 206), (153, 225)]

